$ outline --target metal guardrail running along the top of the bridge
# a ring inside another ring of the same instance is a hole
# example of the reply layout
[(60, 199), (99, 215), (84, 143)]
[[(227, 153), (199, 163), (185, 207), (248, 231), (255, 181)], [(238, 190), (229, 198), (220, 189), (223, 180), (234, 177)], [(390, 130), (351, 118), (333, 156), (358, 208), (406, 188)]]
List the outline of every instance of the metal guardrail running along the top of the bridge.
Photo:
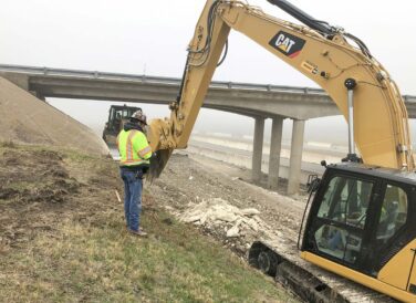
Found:
[[(128, 82), (141, 82), (141, 83), (160, 83), (160, 84), (170, 84), (170, 85), (179, 85), (181, 81), (180, 79), (177, 79), (177, 77), (166, 77), (166, 76), (134, 75), (134, 74), (124, 74), (124, 73), (50, 69), (50, 67), (22, 66), (22, 65), (10, 65), (10, 64), (0, 64), (0, 72), (22, 73), (22, 74), (29, 74), (29, 75), (43, 75), (43, 76), (63, 76), (63, 77), (128, 81)], [(210, 84), (210, 87), (326, 95), (325, 91), (320, 90), (320, 88), (283, 86), (283, 85), (272, 85), (272, 84), (225, 82), (225, 81), (212, 81)]]

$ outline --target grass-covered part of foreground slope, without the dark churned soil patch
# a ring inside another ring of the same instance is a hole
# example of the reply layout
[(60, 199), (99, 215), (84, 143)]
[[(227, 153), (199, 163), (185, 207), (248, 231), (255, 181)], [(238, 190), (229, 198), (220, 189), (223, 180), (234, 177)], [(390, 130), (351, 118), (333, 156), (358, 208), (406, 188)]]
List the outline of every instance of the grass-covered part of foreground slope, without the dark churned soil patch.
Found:
[[(6, 145), (0, 153), (10, 148), (21, 156), (37, 149)], [(0, 302), (294, 302), (212, 239), (162, 211), (150, 192), (143, 213), (150, 237), (127, 234), (114, 198), (119, 181), (105, 182), (117, 176), (114, 164), (72, 152), (62, 158), (81, 189), (50, 228), (0, 254)]]

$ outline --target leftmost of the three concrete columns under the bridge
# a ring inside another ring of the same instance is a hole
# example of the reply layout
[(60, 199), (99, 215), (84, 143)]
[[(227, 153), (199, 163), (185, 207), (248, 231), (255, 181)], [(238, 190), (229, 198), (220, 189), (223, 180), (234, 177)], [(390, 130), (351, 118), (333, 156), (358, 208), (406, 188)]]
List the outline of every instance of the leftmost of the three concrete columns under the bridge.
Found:
[(261, 158), (263, 155), (264, 118), (256, 117), (254, 139), (251, 159), (251, 179), (254, 182), (261, 180)]

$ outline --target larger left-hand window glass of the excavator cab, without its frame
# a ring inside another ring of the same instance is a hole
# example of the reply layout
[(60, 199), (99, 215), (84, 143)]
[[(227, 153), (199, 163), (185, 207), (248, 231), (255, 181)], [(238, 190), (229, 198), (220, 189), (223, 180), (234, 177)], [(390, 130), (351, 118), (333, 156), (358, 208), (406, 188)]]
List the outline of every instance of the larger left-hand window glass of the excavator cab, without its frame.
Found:
[(314, 242), (321, 253), (355, 263), (362, 249), (363, 229), (373, 182), (334, 176), (327, 184), (316, 219)]

